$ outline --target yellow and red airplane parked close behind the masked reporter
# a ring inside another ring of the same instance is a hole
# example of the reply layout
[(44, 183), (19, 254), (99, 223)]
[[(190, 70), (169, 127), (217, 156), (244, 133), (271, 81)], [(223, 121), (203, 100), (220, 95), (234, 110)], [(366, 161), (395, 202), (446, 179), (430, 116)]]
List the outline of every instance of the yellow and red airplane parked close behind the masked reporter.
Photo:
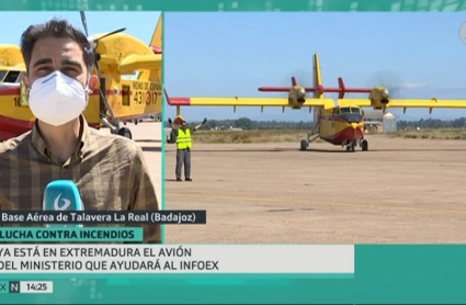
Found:
[[(162, 16), (149, 45), (116, 30), (90, 36), (84, 12), (81, 21), (95, 53), (93, 72), (100, 84), (90, 94), (83, 115), (92, 127), (106, 126), (113, 134), (132, 138), (120, 121), (161, 113)], [(35, 117), (29, 108), (21, 48), (0, 45), (0, 142), (33, 127)], [(137, 80), (122, 76), (139, 72)]]

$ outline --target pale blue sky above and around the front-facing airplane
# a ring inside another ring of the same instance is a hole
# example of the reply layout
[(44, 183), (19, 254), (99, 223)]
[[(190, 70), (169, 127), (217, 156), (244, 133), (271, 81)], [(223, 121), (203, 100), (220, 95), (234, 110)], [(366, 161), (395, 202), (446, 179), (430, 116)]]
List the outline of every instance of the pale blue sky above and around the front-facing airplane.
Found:
[[(171, 97), (287, 97), (258, 88), (312, 84), (319, 54), (325, 87), (401, 88), (393, 98), (465, 99), (466, 13), (164, 13), (164, 86)], [(337, 98), (337, 93), (327, 93)], [(367, 94), (346, 97), (366, 98)], [(466, 110), (390, 110), (401, 120), (456, 118)], [(311, 120), (308, 109), (182, 108), (189, 121)], [(166, 117), (175, 108), (166, 108)]]

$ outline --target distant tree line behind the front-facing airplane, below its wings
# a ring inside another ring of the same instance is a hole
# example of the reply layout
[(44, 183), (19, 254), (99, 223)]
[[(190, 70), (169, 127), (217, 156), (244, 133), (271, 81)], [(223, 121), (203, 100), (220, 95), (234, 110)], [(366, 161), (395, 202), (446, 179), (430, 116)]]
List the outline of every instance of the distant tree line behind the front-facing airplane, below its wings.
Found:
[[(190, 127), (193, 127), (201, 122), (190, 122)], [(409, 128), (466, 128), (466, 118), (445, 121), (439, 118), (428, 118), (419, 121), (398, 121), (398, 129)], [(208, 120), (202, 129), (311, 129), (312, 122), (284, 122), (284, 121), (252, 121), (248, 117), (237, 120)]]

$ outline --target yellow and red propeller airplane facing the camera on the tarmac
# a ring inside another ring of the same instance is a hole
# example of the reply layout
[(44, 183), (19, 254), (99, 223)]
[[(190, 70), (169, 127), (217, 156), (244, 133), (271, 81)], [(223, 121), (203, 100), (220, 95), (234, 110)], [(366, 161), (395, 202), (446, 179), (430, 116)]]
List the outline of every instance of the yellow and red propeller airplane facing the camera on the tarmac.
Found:
[[(314, 56), (314, 88), (305, 88), (296, 83), (293, 77), (292, 88), (259, 88), (259, 91), (285, 91), (288, 98), (285, 99), (255, 99), (255, 98), (170, 98), (166, 91), (166, 98), (170, 105), (177, 106), (177, 114), (181, 114), (181, 106), (203, 105), (203, 106), (282, 106), (299, 110), (308, 106), (314, 111), (314, 129), (307, 135), (307, 139), (300, 142), (300, 149), (306, 150), (309, 143), (321, 138), (333, 145), (346, 147), (348, 151), (354, 151), (356, 146), (362, 150), (368, 150), (368, 143), (364, 139), (364, 115), (361, 108), (373, 108), (385, 113), (387, 108), (429, 108), (430, 113), (434, 108), (466, 108), (466, 100), (390, 100), (388, 89), (376, 87), (374, 89), (351, 89), (345, 88), (342, 78), (339, 78), (340, 88), (323, 88), (320, 76), (319, 56)], [(314, 92), (315, 98), (308, 99), (307, 92)], [(323, 92), (339, 92), (338, 105), (332, 99), (325, 99)], [(368, 99), (343, 99), (344, 93), (367, 92)]]

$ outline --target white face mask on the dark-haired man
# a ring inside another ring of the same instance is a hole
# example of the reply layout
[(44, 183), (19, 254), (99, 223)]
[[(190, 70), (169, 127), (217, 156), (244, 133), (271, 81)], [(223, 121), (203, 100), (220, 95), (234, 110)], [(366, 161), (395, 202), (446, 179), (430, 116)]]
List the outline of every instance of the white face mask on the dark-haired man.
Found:
[(54, 71), (34, 81), (30, 91), (30, 108), (38, 120), (60, 126), (84, 111), (89, 91), (78, 80)]

